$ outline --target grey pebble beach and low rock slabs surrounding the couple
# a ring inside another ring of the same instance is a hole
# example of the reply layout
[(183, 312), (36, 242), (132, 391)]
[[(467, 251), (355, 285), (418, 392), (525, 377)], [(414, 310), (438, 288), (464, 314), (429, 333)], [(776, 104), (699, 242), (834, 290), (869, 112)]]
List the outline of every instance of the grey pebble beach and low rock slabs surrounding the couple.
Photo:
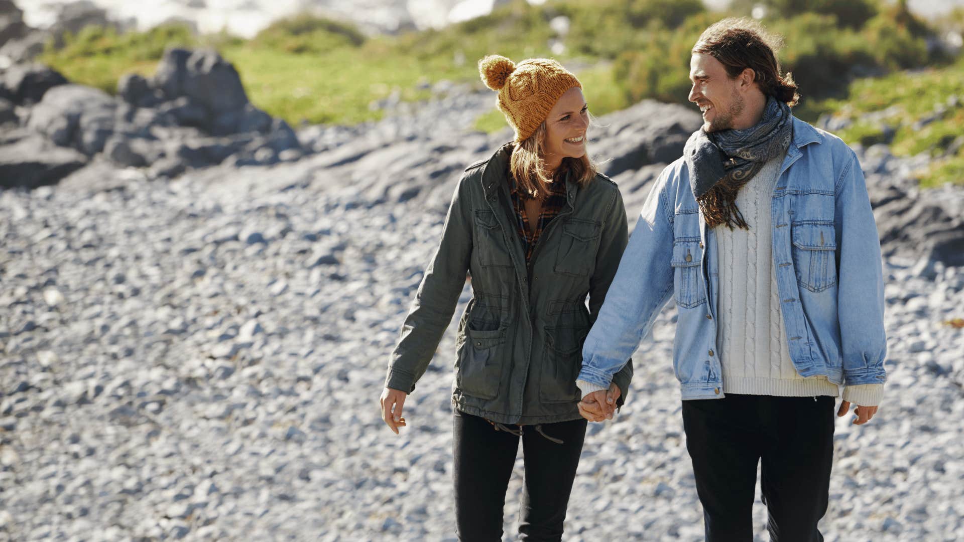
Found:
[[(303, 130), (315, 150), (271, 166), (167, 181), (95, 159), (56, 186), (0, 191), (0, 539), (453, 539), (454, 330), (401, 436), (377, 401), (455, 179), (506, 138), (465, 131), (493, 101), (451, 93)], [(593, 148), (630, 217), (693, 122), (653, 102), (602, 119)], [(916, 212), (960, 242), (960, 190), (918, 194), (900, 180), (912, 163), (860, 152), (871, 193), (904, 194), (878, 211), (882, 235)], [(885, 402), (867, 426), (838, 420), (827, 540), (964, 528), (964, 330), (944, 323), (964, 317), (964, 267), (907, 230), (885, 243)], [(591, 426), (567, 539), (702, 539), (674, 321), (663, 312), (636, 354), (622, 413)], [(759, 502), (755, 520), (763, 540)]]

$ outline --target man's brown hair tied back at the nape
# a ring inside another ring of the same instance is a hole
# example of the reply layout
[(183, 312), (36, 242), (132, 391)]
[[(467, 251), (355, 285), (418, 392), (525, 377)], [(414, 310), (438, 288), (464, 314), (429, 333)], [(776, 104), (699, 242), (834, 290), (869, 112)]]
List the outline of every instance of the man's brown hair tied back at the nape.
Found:
[(780, 75), (776, 51), (783, 39), (766, 32), (759, 22), (746, 17), (725, 18), (703, 31), (691, 52), (708, 54), (722, 64), (730, 77), (743, 69), (753, 69), (754, 81), (764, 95), (790, 105), (800, 99), (790, 72)]

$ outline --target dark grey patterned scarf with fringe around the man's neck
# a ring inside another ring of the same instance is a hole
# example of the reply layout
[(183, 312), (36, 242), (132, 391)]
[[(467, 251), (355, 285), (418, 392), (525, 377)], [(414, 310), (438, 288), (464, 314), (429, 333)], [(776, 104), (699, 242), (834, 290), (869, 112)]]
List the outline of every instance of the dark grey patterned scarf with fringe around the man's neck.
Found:
[(752, 127), (710, 133), (700, 128), (689, 136), (683, 157), (707, 226), (749, 230), (736, 208), (736, 193), (766, 161), (787, 152), (792, 136), (790, 106), (772, 96), (766, 99), (763, 118)]

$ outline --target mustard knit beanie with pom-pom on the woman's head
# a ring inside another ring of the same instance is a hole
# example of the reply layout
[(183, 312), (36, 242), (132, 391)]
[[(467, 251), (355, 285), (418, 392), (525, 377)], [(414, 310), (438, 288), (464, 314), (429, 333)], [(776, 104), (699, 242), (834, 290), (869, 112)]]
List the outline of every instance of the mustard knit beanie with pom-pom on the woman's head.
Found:
[(498, 109), (516, 130), (516, 143), (539, 129), (559, 96), (573, 87), (582, 88), (576, 75), (546, 58), (515, 64), (505, 57), (489, 55), (479, 61), (479, 73), (487, 87), (498, 91)]

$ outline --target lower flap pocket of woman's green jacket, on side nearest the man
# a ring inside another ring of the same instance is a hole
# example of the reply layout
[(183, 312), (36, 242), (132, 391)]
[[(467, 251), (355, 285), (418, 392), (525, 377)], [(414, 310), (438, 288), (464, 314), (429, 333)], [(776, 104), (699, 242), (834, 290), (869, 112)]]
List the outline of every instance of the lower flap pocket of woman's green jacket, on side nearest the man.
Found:
[(546, 355), (539, 373), (539, 399), (547, 403), (579, 400), (576, 377), (582, 367), (584, 327), (546, 328)]

